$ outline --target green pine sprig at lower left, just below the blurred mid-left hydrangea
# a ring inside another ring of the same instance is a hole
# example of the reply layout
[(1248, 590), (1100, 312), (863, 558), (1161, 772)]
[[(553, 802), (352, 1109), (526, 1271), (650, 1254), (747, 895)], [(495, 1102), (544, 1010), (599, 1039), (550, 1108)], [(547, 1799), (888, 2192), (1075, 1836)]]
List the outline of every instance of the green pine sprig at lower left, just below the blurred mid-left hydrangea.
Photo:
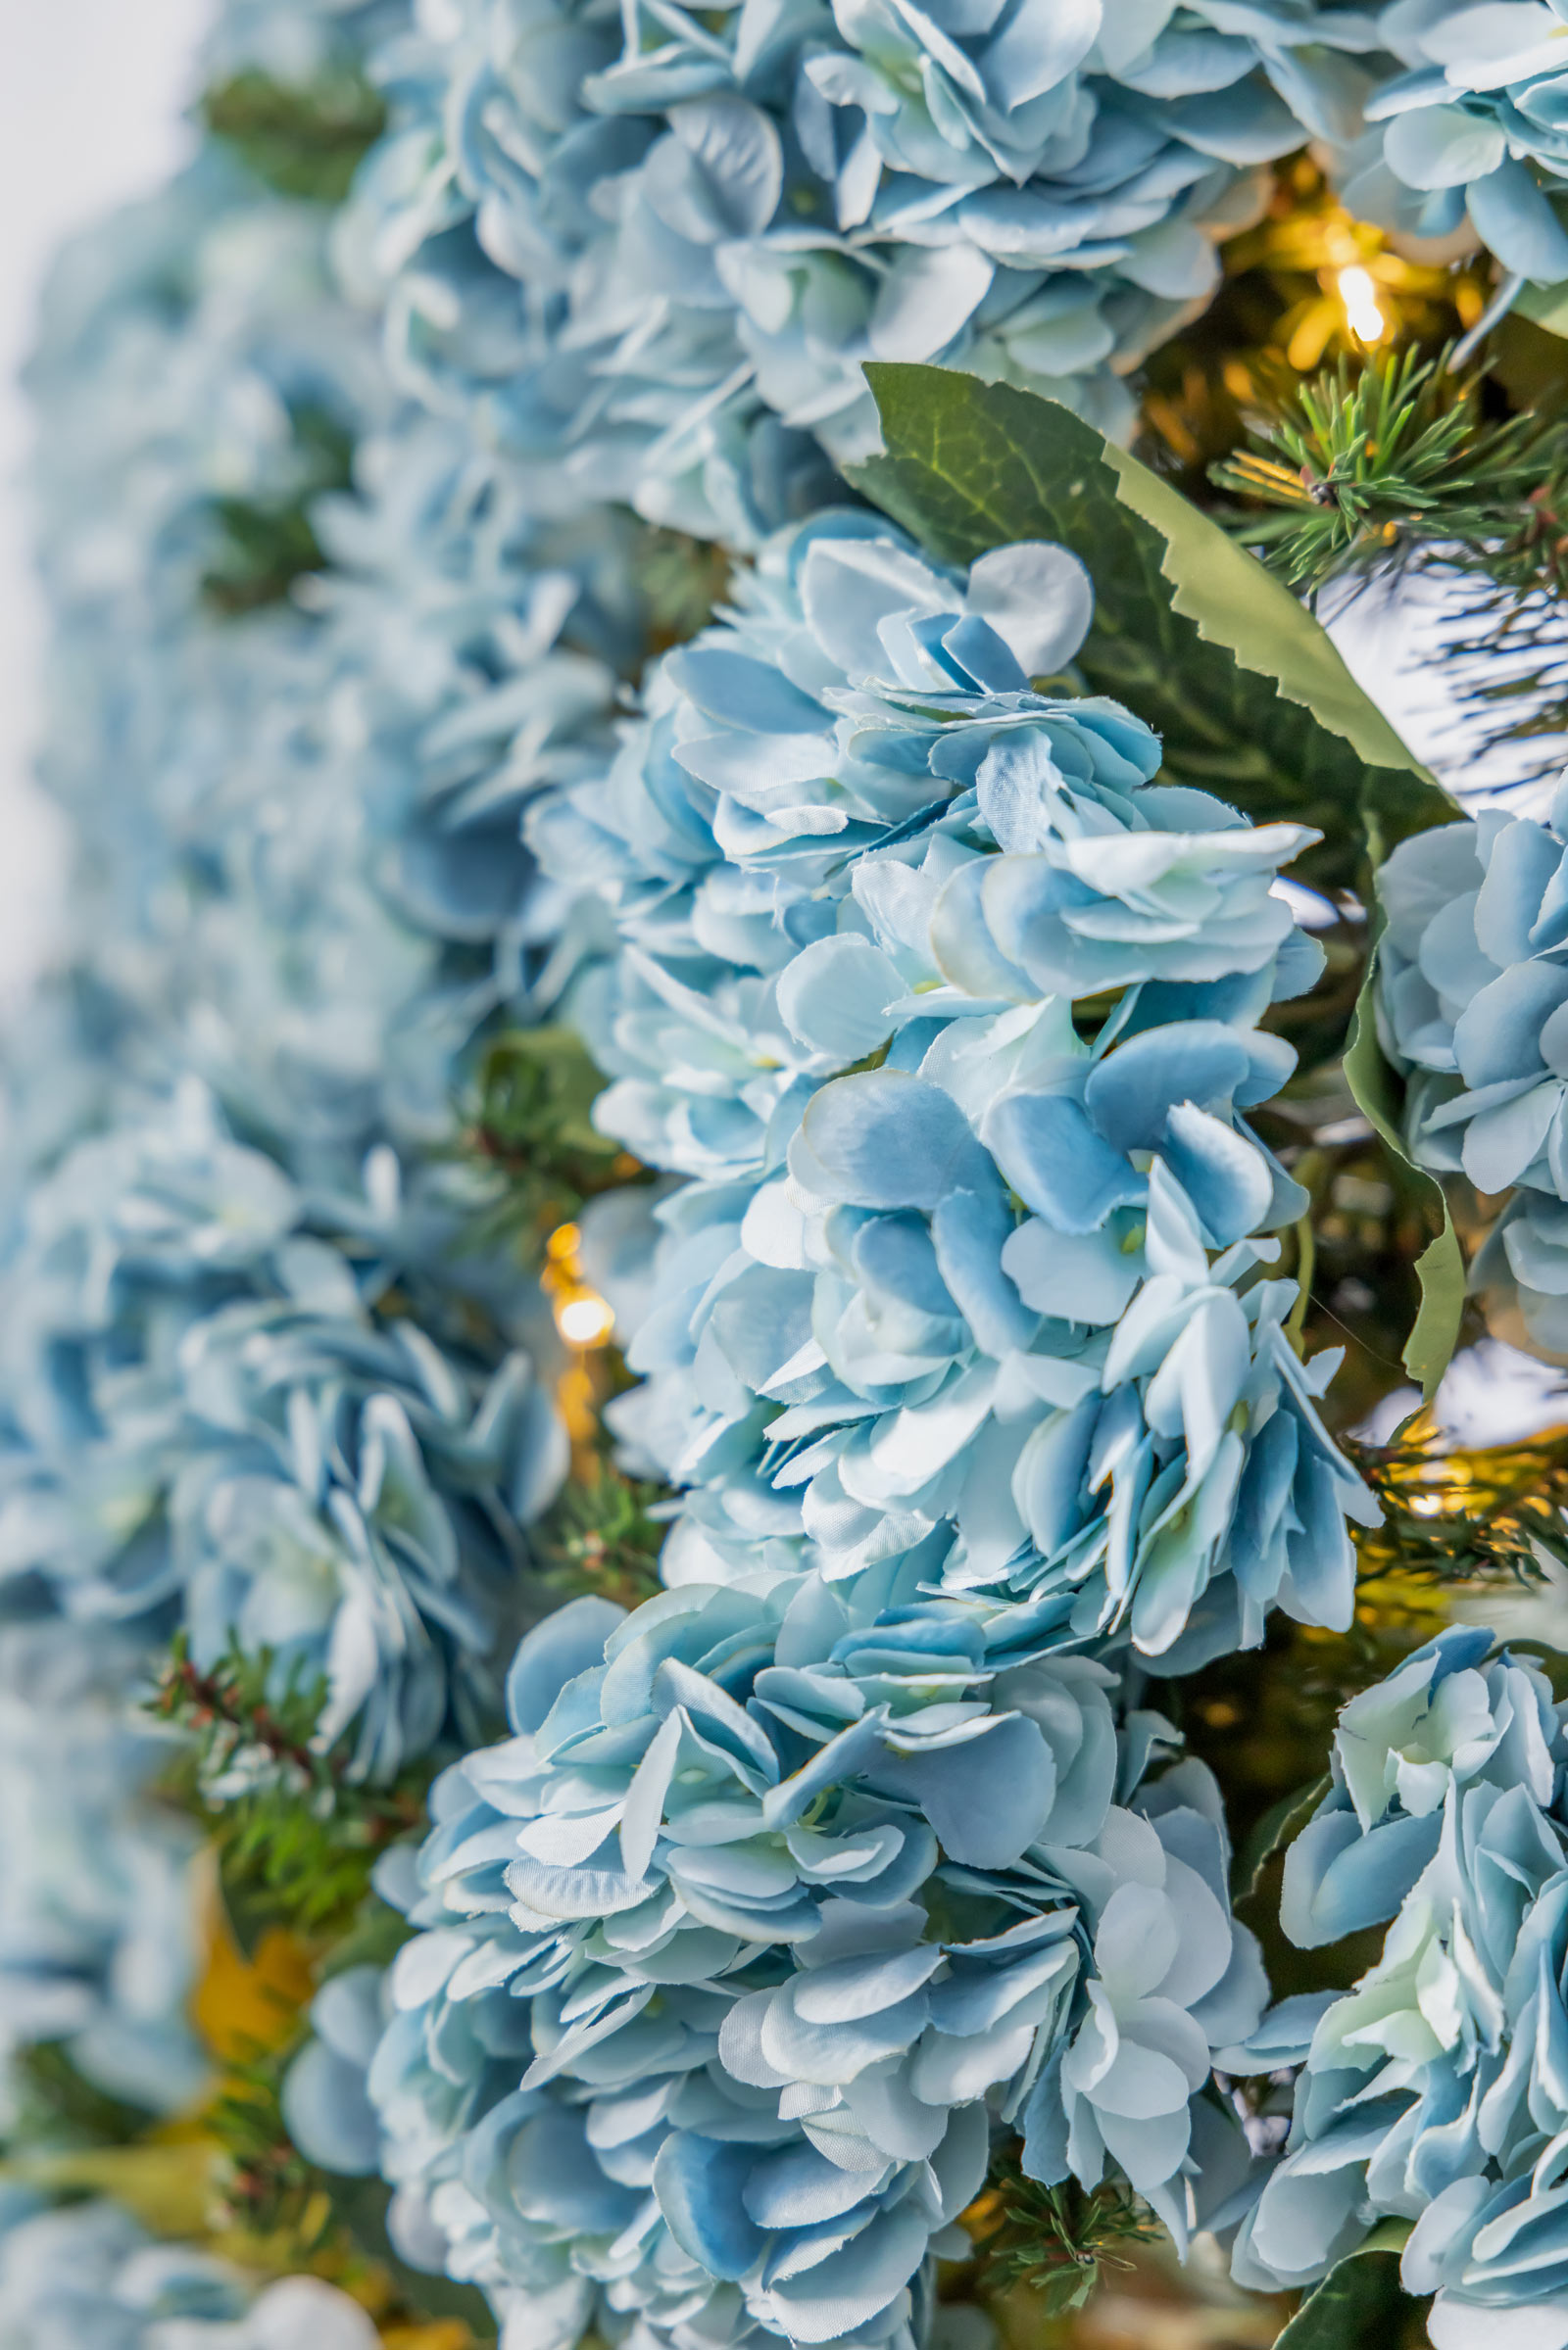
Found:
[(200, 1671), (179, 1633), (150, 1711), (190, 1734), (179, 1793), (212, 1819), (223, 1894), (242, 1943), (268, 1925), (303, 1936), (341, 1934), (360, 1913), (371, 1868), (390, 1842), (423, 1828), (428, 1767), (395, 1786), (364, 1786), (343, 1746), (315, 1730), (322, 1678), (277, 1685), (270, 1652), (240, 1647)]

